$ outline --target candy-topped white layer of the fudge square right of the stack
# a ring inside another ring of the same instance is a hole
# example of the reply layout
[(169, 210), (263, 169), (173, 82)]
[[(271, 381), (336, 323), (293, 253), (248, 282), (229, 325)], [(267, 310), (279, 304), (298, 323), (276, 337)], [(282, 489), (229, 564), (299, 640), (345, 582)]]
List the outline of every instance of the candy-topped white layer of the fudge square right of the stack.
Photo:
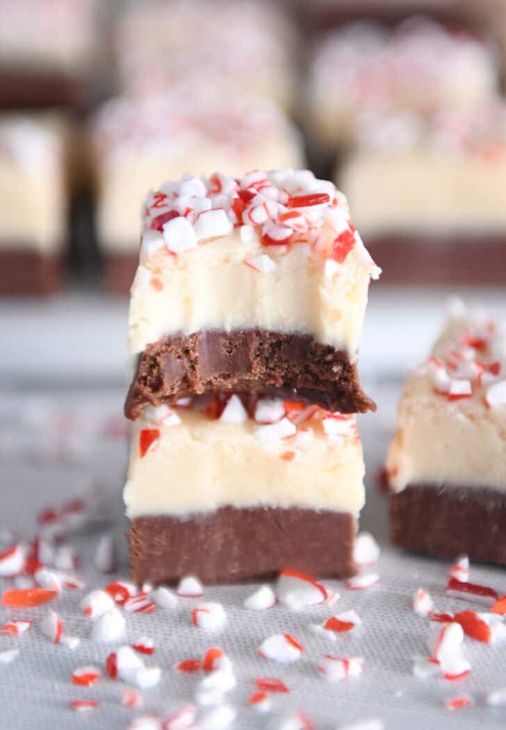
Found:
[[(469, 332), (478, 350), (464, 344)], [(505, 356), (504, 340), (481, 315), (451, 320), (433, 357), (407, 378), (387, 461), (395, 491), (417, 484), (506, 491)]]

